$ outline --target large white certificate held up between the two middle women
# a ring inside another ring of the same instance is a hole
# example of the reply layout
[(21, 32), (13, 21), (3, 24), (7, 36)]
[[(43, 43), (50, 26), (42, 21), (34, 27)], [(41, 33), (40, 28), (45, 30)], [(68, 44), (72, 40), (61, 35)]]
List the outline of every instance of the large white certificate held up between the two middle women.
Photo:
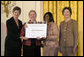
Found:
[(42, 38), (47, 35), (47, 24), (27, 24), (25, 29), (25, 37), (28, 38)]

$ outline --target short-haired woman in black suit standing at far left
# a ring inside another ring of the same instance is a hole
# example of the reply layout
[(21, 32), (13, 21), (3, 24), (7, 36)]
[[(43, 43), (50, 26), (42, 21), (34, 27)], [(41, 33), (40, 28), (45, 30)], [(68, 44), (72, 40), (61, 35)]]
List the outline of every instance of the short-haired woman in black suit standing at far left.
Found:
[(19, 7), (13, 8), (13, 17), (6, 21), (7, 36), (5, 39), (5, 56), (21, 56), (20, 31), (22, 22), (18, 19), (21, 14)]

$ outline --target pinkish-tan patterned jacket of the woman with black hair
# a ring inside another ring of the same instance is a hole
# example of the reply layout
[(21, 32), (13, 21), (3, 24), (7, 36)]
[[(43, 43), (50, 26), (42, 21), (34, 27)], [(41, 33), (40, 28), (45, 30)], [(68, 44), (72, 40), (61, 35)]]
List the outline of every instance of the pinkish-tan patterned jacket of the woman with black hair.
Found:
[(59, 46), (59, 31), (55, 23), (50, 22), (48, 24), (47, 39), (44, 41), (44, 46), (58, 47)]

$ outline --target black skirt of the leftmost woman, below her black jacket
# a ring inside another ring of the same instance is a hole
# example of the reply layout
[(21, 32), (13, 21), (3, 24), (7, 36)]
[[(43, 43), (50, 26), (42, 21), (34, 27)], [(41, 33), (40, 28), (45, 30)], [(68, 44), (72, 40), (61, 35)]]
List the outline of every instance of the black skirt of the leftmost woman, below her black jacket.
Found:
[(21, 41), (20, 39), (16, 40), (11, 40), (6, 38), (5, 40), (5, 56), (21, 56)]

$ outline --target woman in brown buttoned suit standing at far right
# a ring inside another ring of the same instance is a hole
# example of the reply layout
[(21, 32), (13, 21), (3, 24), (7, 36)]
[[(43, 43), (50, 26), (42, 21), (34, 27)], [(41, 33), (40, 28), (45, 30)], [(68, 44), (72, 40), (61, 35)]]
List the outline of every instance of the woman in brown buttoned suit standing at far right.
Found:
[(71, 19), (71, 8), (65, 7), (62, 11), (65, 20), (60, 24), (60, 48), (63, 56), (73, 56), (78, 45), (78, 24)]

